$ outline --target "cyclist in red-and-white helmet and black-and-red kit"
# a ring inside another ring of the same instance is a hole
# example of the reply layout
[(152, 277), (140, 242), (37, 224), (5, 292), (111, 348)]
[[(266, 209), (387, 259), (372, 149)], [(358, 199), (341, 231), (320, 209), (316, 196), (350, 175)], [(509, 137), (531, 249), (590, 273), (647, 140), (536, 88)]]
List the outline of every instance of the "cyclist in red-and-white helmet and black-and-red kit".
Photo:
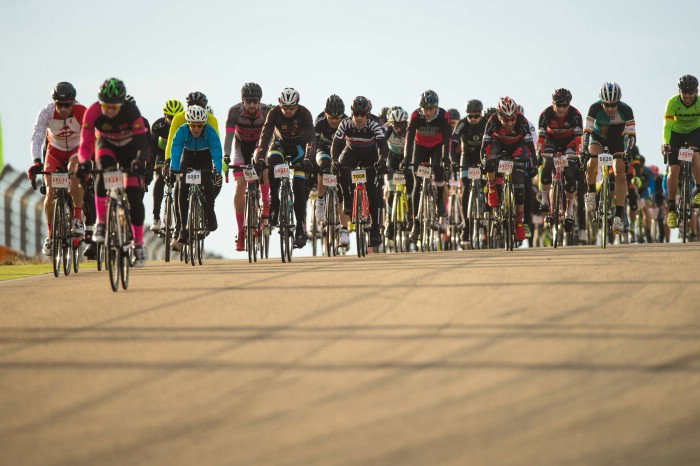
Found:
[[(491, 208), (498, 206), (496, 190), (496, 170), (501, 154), (505, 152), (513, 158), (513, 192), (515, 194), (515, 240), (525, 240), (523, 216), (525, 208), (525, 174), (532, 178), (537, 174), (535, 163), (535, 145), (530, 131), (530, 122), (510, 97), (501, 97), (496, 114), (489, 118), (481, 142), (481, 153), (488, 174), (488, 204)], [(528, 159), (530, 162), (529, 169)]]

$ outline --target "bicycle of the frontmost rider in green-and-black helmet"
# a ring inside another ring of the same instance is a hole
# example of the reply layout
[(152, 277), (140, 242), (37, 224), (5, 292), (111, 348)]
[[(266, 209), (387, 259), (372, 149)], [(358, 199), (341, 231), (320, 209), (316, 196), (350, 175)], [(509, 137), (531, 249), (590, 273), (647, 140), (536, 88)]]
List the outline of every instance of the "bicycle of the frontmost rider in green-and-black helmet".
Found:
[(119, 289), (119, 282), (126, 290), (129, 287), (129, 268), (131, 267), (129, 256), (134, 248), (129, 200), (126, 197), (122, 174), (128, 173), (128, 170), (117, 165), (116, 168), (92, 170), (91, 173), (102, 174), (105, 190), (109, 192), (104, 241), (109, 283), (114, 292)]

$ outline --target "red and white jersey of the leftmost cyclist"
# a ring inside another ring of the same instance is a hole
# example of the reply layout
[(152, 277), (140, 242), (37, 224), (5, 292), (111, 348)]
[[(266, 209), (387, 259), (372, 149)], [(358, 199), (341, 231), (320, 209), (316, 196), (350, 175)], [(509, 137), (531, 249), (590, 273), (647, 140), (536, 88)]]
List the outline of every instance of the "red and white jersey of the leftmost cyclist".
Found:
[(71, 116), (64, 120), (58, 115), (53, 102), (42, 108), (36, 117), (32, 133), (32, 160), (43, 158), (41, 146), (45, 138), (48, 138), (50, 146), (64, 152), (78, 147), (85, 111), (84, 105), (75, 103)]

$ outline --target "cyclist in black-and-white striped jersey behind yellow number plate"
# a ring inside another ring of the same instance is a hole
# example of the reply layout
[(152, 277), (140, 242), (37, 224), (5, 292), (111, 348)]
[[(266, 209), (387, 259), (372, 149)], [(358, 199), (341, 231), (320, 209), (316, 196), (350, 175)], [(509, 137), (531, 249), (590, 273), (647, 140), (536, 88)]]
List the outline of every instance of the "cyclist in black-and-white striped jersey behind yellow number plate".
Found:
[[(359, 166), (376, 169), (376, 175), (386, 172), (386, 157), (389, 150), (381, 121), (370, 116), (371, 102), (363, 96), (352, 101), (352, 117), (346, 118), (338, 125), (333, 138), (331, 157), (335, 171), (340, 173), (340, 186), (343, 190), (345, 214), (352, 212), (352, 191), (350, 171)], [(342, 170), (341, 170), (342, 168)], [(379, 193), (375, 185), (375, 170), (367, 170), (367, 198), (369, 200), (372, 228), (369, 233), (369, 246), (379, 246), (382, 237), (379, 234)], [(341, 219), (342, 220), (342, 219)], [(347, 219), (343, 229), (347, 231)], [(343, 235), (341, 230), (341, 235)]]

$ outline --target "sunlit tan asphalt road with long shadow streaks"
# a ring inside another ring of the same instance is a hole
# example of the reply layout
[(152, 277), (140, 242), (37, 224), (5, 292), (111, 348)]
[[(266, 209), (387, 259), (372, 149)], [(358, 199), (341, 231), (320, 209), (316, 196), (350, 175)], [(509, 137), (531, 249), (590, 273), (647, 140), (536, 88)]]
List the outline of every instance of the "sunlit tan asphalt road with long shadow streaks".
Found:
[(0, 464), (698, 465), (700, 245), (0, 283)]

